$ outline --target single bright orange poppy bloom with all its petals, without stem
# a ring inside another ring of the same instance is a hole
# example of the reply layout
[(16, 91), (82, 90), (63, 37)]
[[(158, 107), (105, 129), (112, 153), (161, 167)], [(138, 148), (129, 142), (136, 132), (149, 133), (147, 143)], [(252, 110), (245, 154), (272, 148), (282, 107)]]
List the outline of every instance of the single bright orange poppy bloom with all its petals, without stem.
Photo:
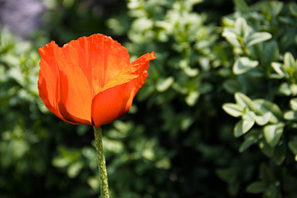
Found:
[(124, 116), (144, 84), (154, 52), (130, 63), (126, 48), (94, 34), (62, 48), (54, 41), (38, 49), (38, 90), (49, 111), (71, 124), (96, 127)]

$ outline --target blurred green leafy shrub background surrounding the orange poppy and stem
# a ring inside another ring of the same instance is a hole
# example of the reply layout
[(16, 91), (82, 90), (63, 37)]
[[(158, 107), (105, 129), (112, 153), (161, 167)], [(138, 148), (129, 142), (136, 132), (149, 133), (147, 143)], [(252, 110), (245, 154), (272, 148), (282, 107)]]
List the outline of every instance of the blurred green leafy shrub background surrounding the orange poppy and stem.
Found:
[(111, 198), (297, 197), (294, 1), (0, 0), (0, 24), (0, 198), (98, 197), (92, 126), (37, 90), (37, 49), (94, 33), (157, 57), (102, 126)]

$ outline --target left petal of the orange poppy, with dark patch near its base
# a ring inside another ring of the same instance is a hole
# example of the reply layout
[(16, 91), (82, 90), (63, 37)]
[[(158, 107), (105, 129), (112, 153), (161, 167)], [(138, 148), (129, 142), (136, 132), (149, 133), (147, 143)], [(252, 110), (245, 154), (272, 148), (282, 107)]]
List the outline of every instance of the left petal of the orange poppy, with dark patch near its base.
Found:
[(52, 41), (41, 54), (38, 89), (46, 107), (71, 124), (91, 124), (91, 90), (79, 67), (64, 60)]

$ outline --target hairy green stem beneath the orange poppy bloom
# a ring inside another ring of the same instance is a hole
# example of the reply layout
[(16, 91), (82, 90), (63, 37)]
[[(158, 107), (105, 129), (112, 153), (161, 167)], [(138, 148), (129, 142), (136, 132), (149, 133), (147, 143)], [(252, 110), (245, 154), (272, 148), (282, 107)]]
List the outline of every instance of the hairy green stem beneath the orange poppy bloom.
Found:
[(106, 171), (105, 157), (103, 154), (103, 145), (102, 145), (102, 130), (100, 126), (99, 127), (94, 126), (94, 135), (95, 135), (97, 159), (98, 159), (98, 167), (99, 167), (101, 197), (109, 198), (107, 171)]

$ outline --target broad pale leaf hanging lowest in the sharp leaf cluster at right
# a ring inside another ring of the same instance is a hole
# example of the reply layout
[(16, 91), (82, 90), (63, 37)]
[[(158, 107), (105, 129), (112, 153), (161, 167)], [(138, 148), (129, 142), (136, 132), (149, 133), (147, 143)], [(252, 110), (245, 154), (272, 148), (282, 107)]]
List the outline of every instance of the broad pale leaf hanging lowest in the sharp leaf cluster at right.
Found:
[(275, 147), (278, 144), (282, 137), (284, 126), (285, 124), (281, 122), (279, 124), (269, 124), (264, 127), (264, 137), (270, 146)]

